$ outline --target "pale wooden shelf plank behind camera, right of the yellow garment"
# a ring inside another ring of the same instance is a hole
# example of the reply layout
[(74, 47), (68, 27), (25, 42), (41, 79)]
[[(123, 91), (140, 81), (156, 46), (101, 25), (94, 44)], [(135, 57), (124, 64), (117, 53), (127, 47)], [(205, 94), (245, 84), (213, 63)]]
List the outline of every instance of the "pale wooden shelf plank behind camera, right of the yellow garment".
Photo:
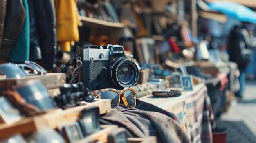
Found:
[(124, 28), (126, 25), (118, 22), (108, 22), (105, 20), (98, 20), (96, 18), (89, 18), (85, 16), (80, 16), (81, 22), (85, 26), (91, 27), (112, 27), (112, 28)]

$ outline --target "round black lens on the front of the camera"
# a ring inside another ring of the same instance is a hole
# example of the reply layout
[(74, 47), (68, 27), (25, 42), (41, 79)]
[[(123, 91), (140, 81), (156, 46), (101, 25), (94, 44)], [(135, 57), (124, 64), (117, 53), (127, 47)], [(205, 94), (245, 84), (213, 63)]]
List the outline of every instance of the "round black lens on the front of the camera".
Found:
[(139, 78), (137, 65), (128, 59), (117, 59), (110, 63), (108, 70), (110, 83), (117, 89), (134, 86)]

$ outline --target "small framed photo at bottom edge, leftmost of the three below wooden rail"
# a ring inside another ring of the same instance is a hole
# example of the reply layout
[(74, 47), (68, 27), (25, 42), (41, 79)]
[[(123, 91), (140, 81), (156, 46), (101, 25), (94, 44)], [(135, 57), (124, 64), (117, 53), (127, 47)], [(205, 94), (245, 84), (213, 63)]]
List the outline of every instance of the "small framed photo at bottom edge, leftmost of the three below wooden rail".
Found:
[(68, 143), (75, 143), (76, 141), (83, 139), (82, 130), (77, 122), (65, 125), (62, 128), (62, 133)]

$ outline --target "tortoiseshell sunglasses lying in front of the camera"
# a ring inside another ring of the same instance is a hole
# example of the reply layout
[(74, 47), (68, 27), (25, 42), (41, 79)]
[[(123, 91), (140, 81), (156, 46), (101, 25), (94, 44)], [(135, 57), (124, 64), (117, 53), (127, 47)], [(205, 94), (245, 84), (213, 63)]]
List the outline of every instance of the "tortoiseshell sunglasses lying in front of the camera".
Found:
[(115, 109), (117, 108), (117, 106), (119, 106), (121, 99), (120, 97), (122, 97), (122, 100), (126, 106), (134, 108), (136, 105), (135, 93), (135, 90), (133, 90), (132, 88), (124, 88), (121, 91), (112, 88), (107, 88), (95, 90), (92, 92), (92, 94), (94, 96), (97, 96), (99, 99), (110, 99), (112, 109)]

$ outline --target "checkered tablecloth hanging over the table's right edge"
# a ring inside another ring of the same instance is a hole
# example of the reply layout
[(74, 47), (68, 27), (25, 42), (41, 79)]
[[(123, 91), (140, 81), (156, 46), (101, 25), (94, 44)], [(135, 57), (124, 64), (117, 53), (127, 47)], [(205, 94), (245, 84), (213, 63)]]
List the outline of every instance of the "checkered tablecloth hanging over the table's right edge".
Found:
[(212, 143), (211, 126), (214, 116), (207, 94), (207, 86), (198, 84), (193, 91), (179, 97), (159, 98), (152, 95), (139, 98), (168, 112), (173, 112), (193, 143)]

